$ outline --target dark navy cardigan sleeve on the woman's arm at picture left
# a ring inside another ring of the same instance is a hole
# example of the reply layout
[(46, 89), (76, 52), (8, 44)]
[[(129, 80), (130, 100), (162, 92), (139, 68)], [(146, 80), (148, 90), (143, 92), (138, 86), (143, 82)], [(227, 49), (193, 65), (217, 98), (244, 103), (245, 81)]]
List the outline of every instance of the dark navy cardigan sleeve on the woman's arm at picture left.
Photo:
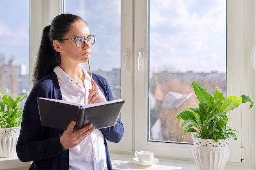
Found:
[(56, 98), (51, 79), (38, 82), (24, 106), (16, 151), (21, 161), (49, 159), (63, 151), (60, 136), (63, 130), (41, 126), (36, 97)]

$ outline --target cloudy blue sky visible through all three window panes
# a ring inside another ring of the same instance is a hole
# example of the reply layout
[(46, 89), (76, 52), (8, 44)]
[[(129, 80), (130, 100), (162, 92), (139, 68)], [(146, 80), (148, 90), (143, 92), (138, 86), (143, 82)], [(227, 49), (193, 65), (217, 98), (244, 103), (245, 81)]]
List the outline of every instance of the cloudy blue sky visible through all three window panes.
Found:
[[(150, 70), (226, 71), (225, 0), (150, 0)], [(120, 0), (66, 0), (96, 35), (91, 68), (120, 68)], [(29, 63), (29, 0), (1, 1), (0, 54)], [(0, 55), (1, 56), (1, 55)], [(86, 65), (85, 65), (86, 66)]]

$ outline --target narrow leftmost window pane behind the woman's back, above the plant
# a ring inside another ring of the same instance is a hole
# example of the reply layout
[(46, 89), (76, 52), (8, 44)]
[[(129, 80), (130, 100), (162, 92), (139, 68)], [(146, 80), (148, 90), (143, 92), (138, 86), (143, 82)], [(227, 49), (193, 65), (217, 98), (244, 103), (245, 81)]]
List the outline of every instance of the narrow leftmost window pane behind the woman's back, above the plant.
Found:
[(16, 99), (29, 91), (29, 0), (1, 2), (0, 39), (0, 93)]

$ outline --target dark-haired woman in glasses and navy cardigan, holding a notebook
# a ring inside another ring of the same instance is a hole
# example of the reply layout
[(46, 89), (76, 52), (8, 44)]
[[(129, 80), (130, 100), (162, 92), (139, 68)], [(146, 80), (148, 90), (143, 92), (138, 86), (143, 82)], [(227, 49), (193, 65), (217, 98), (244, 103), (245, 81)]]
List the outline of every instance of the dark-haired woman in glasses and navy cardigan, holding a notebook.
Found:
[(33, 161), (30, 170), (112, 170), (106, 139), (119, 142), (124, 126), (95, 130), (90, 124), (73, 132), (41, 126), (36, 97), (63, 99), (81, 105), (113, 100), (105, 78), (90, 75), (81, 63), (88, 62), (95, 36), (79, 16), (61, 14), (43, 30), (33, 82), (24, 106), (17, 155)]

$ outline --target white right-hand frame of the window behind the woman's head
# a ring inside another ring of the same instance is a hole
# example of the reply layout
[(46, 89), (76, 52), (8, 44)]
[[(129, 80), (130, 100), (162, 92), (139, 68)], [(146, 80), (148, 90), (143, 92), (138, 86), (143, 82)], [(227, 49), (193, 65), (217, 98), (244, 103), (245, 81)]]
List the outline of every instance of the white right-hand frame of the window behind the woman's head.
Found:
[(121, 0), (121, 99), (125, 104), (121, 110), (124, 136), (119, 143), (108, 142), (110, 152), (132, 152), (133, 149), (133, 3)]

